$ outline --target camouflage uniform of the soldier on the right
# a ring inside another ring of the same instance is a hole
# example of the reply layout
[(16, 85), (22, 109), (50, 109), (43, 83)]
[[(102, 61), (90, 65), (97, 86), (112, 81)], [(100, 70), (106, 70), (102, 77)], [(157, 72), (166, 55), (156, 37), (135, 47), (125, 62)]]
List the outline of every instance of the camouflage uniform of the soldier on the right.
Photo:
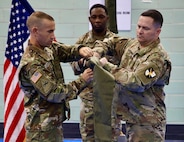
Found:
[(114, 50), (121, 60), (119, 66), (108, 63), (104, 68), (116, 80), (112, 110), (121, 110), (128, 142), (164, 142), (164, 86), (169, 84), (171, 62), (160, 39), (145, 48), (140, 48), (137, 39), (119, 37), (96, 46)]

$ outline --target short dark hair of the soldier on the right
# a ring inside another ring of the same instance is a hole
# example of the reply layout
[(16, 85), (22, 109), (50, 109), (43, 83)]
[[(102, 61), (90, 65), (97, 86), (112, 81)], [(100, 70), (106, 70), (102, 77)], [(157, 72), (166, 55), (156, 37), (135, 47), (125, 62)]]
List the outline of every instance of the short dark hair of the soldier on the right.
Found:
[(163, 24), (163, 16), (162, 16), (162, 14), (158, 10), (149, 9), (149, 10), (143, 12), (141, 14), (141, 16), (148, 16), (148, 17), (153, 18), (155, 24), (159, 25), (160, 28), (162, 27), (162, 24)]

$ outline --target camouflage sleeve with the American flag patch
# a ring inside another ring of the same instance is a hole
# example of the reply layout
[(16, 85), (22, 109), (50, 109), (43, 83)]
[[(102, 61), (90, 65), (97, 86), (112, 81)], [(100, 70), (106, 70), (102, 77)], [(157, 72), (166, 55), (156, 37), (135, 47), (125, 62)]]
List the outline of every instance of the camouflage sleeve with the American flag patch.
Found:
[[(60, 103), (64, 99), (75, 99), (79, 91), (86, 86), (86, 82), (81, 77), (68, 84), (61, 83), (53, 77), (52, 73), (36, 63), (24, 66), (21, 70), (21, 76), (30, 81), (42, 98), (54, 103)], [(26, 81), (21, 82), (23, 87), (26, 87), (26, 84)]]

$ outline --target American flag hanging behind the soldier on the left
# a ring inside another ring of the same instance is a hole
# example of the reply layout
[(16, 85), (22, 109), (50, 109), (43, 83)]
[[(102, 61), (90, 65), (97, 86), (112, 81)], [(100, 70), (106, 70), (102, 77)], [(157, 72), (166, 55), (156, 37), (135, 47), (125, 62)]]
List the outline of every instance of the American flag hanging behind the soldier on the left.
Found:
[(23, 98), (18, 83), (18, 66), (29, 37), (26, 20), (34, 10), (26, 0), (12, 0), (4, 61), (4, 142), (25, 140)]

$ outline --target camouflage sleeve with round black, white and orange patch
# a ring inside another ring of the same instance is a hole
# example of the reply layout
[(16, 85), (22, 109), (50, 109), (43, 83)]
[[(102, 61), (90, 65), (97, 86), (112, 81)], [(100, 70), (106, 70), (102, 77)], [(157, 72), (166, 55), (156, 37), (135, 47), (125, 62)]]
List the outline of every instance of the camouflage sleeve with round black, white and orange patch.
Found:
[(135, 70), (121, 68), (114, 70), (113, 74), (122, 86), (131, 91), (143, 92), (152, 85), (165, 85), (165, 77), (162, 76), (166, 71), (166, 64), (166, 61), (155, 53), (138, 65)]

